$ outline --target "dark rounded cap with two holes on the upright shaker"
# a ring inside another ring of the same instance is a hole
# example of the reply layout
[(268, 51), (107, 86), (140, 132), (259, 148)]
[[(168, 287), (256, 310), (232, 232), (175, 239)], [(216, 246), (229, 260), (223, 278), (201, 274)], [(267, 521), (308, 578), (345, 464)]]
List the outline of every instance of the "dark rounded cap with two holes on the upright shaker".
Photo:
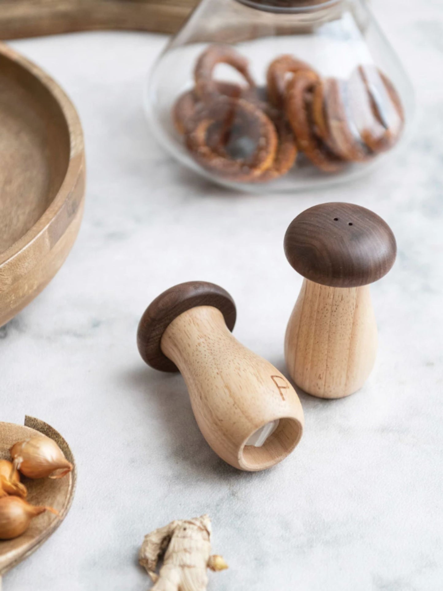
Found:
[(331, 287), (379, 280), (395, 261), (395, 236), (376, 213), (352, 203), (310, 207), (289, 225), (285, 254), (299, 274)]

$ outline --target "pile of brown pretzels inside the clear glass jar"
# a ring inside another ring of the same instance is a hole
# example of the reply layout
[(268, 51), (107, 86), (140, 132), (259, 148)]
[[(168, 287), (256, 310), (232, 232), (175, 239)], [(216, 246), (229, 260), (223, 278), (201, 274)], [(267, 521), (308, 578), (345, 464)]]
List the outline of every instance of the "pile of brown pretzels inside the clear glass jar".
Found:
[[(234, 67), (247, 85), (215, 80), (219, 63)], [(347, 80), (324, 79), (285, 55), (268, 67), (266, 87), (258, 87), (245, 57), (217, 44), (198, 58), (194, 80), (174, 105), (175, 128), (198, 163), (233, 181), (280, 177), (298, 152), (337, 172), (389, 150), (403, 128), (398, 93), (375, 66), (359, 66)]]

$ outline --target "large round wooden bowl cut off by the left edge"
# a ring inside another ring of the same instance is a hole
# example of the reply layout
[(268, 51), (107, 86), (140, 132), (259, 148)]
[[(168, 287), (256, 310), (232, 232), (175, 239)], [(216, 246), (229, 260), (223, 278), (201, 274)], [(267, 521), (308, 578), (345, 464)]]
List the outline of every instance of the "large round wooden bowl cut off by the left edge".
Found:
[(79, 117), (47, 74), (0, 44), (0, 326), (66, 259), (83, 213)]

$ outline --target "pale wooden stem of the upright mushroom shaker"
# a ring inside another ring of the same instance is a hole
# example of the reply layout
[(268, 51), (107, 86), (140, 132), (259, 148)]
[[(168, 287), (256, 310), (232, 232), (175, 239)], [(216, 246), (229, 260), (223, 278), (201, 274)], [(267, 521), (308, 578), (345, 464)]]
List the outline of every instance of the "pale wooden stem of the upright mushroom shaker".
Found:
[(303, 281), (285, 338), (286, 365), (300, 388), (321, 398), (353, 394), (372, 371), (376, 350), (369, 285)]

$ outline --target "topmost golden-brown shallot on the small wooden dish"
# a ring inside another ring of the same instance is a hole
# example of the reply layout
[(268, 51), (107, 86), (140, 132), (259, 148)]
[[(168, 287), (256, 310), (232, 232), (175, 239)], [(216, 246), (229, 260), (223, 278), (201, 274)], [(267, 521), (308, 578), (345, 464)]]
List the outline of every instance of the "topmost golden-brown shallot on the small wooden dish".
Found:
[(63, 478), (73, 469), (57, 443), (44, 435), (18, 441), (9, 452), (14, 465), (28, 478)]

